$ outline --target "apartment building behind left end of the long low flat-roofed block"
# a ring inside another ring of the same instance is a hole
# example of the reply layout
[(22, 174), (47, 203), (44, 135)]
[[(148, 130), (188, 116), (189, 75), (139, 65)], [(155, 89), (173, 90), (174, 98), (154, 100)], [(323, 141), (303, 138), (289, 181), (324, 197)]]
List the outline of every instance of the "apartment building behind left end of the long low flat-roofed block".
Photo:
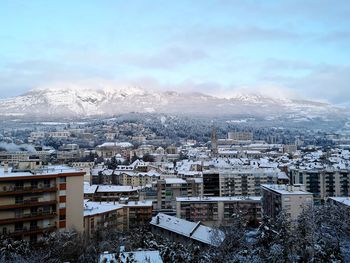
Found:
[(157, 210), (176, 212), (176, 197), (201, 196), (203, 192), (202, 178), (165, 178), (158, 180)]

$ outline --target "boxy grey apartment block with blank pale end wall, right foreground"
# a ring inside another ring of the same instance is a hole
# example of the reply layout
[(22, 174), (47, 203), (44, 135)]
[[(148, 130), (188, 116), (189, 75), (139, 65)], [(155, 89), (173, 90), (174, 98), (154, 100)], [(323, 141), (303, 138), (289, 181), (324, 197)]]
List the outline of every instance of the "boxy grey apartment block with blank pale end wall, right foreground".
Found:
[(303, 209), (313, 204), (313, 195), (303, 185), (262, 185), (263, 213), (276, 218), (284, 211), (291, 219), (296, 219)]

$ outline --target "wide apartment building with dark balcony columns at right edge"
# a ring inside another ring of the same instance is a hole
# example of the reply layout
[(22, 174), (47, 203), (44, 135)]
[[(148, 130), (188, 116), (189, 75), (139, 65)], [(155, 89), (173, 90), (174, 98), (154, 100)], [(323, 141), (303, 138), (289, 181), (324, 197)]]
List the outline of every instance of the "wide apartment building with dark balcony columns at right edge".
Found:
[(349, 169), (289, 169), (291, 182), (304, 184), (314, 195), (315, 201), (323, 201), (332, 196), (350, 195)]

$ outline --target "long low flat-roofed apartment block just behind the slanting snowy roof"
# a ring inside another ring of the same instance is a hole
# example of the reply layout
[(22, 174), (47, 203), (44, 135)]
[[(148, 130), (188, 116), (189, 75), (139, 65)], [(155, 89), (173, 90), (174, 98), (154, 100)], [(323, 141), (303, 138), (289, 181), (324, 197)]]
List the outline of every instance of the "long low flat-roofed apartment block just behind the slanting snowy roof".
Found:
[(250, 197), (178, 197), (176, 216), (208, 226), (228, 226), (235, 214), (240, 214), (250, 226), (261, 221), (261, 196)]

